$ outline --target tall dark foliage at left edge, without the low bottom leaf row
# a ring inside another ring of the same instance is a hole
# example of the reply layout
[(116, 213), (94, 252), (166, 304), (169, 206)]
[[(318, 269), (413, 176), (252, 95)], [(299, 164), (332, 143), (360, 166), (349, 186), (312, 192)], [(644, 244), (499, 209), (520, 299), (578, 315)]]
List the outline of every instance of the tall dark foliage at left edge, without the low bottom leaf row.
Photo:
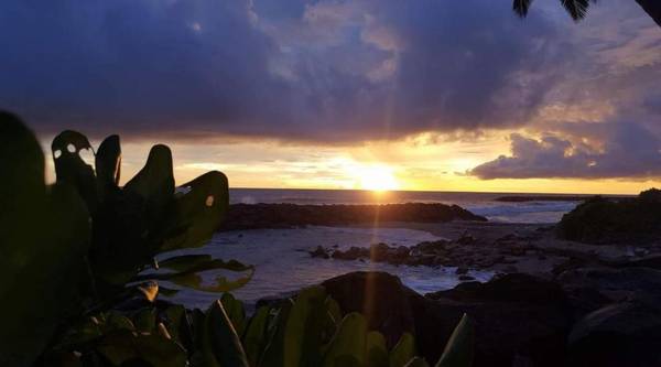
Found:
[[(162, 261), (166, 272), (139, 274), (158, 268), (156, 255), (212, 237), (229, 205), (223, 173), (175, 190), (170, 149), (155, 145), (145, 166), (120, 187), (119, 137), (100, 144), (96, 172), (79, 154), (91, 150), (82, 133), (64, 131), (51, 148), (56, 183), (48, 186), (36, 138), (18, 117), (0, 112), (0, 295), (8, 315), (0, 365), (31, 365), (69, 317), (115, 303), (129, 282), (169, 280), (226, 292), (249, 281), (252, 267), (208, 256), (171, 257)], [(214, 269), (245, 276), (203, 285), (202, 272)]]

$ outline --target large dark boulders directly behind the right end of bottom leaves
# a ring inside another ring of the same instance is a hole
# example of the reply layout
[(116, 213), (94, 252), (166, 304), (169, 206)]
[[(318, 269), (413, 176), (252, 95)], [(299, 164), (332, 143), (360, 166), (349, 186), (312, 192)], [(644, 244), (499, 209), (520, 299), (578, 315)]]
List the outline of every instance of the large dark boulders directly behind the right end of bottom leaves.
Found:
[(534, 277), (506, 276), (422, 296), (382, 272), (355, 272), (323, 283), (344, 312), (365, 312), (371, 328), (392, 344), (414, 332), (420, 353), (436, 360), (464, 313), (476, 322), (475, 366), (560, 366), (565, 357), (568, 312), (560, 288)]

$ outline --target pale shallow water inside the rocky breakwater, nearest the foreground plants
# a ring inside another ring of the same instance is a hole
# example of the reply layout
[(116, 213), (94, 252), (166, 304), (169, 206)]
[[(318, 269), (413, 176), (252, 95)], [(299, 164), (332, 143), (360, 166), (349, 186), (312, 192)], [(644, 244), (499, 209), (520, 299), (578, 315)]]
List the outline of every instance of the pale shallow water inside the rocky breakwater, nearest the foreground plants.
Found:
[[(291, 294), (299, 289), (351, 271), (387, 271), (397, 274), (408, 287), (420, 293), (448, 289), (457, 284), (454, 268), (407, 267), (370, 261), (343, 261), (312, 258), (306, 250), (316, 246), (347, 249), (351, 246), (368, 247), (373, 242), (391, 246), (413, 246), (437, 237), (421, 230), (403, 228), (345, 228), (308, 227), (302, 229), (259, 229), (217, 234), (212, 242), (199, 249), (180, 253), (209, 253), (225, 260), (237, 259), (256, 266), (252, 280), (232, 292), (239, 299), (253, 304), (268, 296)], [(203, 274), (205, 282), (219, 274)], [(236, 278), (232, 273), (228, 278)], [(478, 280), (487, 280), (490, 273), (472, 272)], [(169, 284), (172, 285), (172, 284)], [(366, 290), (370, 291), (370, 290)], [(183, 290), (175, 299), (188, 306), (207, 307), (218, 294)]]

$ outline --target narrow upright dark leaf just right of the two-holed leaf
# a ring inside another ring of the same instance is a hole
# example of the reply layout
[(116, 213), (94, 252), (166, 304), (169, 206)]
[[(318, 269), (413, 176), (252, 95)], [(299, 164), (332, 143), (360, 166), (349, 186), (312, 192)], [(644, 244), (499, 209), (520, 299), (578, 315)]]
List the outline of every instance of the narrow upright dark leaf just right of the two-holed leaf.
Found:
[(101, 198), (119, 191), (121, 147), (119, 136), (106, 138), (95, 156), (97, 188)]

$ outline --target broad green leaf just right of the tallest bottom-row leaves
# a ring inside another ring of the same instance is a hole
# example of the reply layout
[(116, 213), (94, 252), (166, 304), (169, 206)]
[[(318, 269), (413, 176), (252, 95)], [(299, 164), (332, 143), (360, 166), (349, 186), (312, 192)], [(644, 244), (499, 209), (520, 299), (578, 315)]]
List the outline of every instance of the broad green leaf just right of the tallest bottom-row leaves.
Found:
[(366, 361), (366, 337), (367, 321), (365, 317), (356, 312), (347, 314), (326, 349), (323, 366), (334, 367), (342, 360), (346, 364), (351, 359), (362, 366)]

